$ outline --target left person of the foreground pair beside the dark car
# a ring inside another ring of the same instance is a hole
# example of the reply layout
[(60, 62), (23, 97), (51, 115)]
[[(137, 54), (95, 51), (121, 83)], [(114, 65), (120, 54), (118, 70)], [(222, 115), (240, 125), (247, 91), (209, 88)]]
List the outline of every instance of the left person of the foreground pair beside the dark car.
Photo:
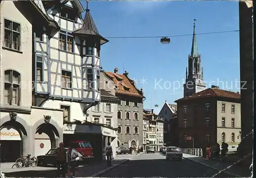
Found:
[[(58, 176), (65, 177), (65, 165), (66, 165), (66, 149), (63, 147), (63, 143), (59, 143), (59, 147), (56, 150), (56, 164)], [(61, 167), (61, 171), (60, 171)]]

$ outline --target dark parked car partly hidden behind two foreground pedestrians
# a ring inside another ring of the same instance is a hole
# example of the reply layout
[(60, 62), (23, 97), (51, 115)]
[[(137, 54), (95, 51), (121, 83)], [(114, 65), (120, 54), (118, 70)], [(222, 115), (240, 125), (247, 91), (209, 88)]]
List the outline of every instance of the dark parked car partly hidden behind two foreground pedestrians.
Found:
[[(68, 153), (68, 148), (65, 148), (67, 150)], [(77, 151), (75, 148), (73, 148), (73, 150), (77, 153), (78, 157), (76, 158), (76, 167), (79, 166), (79, 164), (81, 163), (81, 161), (83, 160), (82, 154), (80, 154), (79, 151)], [(37, 165), (47, 165), (47, 164), (51, 164), (56, 166), (56, 152), (57, 152), (57, 148), (52, 148), (50, 149), (46, 155), (41, 155), (41, 156), (37, 156)]]

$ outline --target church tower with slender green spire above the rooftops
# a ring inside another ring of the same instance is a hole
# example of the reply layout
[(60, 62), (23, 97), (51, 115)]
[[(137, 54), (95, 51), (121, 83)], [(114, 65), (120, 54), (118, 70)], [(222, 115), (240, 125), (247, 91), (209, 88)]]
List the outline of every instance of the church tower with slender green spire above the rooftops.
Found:
[[(188, 71), (187, 71), (188, 69)], [(194, 32), (191, 53), (188, 55), (188, 68), (186, 68), (186, 83), (183, 85), (184, 97), (206, 89), (201, 68), (201, 55), (198, 53), (196, 38), (196, 19), (194, 19)]]

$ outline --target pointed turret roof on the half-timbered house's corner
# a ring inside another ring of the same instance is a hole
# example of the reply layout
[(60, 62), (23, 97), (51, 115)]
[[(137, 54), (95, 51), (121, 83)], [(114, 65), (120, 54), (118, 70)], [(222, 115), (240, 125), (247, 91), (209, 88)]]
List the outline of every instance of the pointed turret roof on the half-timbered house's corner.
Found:
[(73, 31), (73, 34), (83, 36), (83, 37), (95, 36), (95, 38), (100, 38), (100, 44), (102, 45), (106, 42), (109, 42), (109, 40), (105, 39), (99, 34), (96, 24), (90, 13), (90, 9), (88, 9), (88, 2), (89, 1), (87, 1), (87, 8), (86, 8), (86, 14), (84, 15), (84, 19), (83, 19), (83, 25), (80, 29)]

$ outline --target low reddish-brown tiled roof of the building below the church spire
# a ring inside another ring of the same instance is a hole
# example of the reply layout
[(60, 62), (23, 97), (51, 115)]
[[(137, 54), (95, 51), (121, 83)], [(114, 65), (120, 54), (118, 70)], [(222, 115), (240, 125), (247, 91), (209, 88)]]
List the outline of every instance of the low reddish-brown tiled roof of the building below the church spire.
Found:
[(235, 93), (227, 90), (221, 90), (217, 88), (208, 88), (198, 93), (194, 93), (191, 96), (185, 96), (183, 98), (180, 98), (175, 102), (177, 103), (177, 101), (181, 101), (181, 100), (205, 98), (205, 97), (226, 97), (226, 98), (233, 98), (233, 99), (241, 99), (241, 95), (239, 93)]

